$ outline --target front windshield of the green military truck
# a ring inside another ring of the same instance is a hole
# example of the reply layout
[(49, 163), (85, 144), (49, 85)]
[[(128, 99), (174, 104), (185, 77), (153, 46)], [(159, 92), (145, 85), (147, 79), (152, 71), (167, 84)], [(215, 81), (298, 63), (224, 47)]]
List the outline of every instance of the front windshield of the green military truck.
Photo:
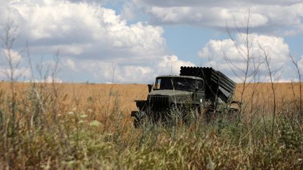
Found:
[(154, 90), (184, 90), (192, 92), (195, 80), (191, 78), (156, 78)]

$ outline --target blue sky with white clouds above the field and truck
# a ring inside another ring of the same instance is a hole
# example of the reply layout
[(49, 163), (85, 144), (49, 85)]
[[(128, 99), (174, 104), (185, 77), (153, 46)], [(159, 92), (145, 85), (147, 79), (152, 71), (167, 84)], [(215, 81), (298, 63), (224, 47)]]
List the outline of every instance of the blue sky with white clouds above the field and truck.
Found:
[(290, 55), (303, 68), (303, 2), (0, 0), (0, 36), (0, 80), (10, 57), (20, 81), (153, 83), (211, 66), (237, 83), (268, 82), (269, 70), (290, 82)]

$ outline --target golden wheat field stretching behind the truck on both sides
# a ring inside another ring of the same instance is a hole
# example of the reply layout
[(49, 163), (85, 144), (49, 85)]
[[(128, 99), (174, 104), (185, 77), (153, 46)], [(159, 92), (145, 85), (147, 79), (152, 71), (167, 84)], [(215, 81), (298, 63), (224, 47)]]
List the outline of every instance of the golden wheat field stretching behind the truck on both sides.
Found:
[[(29, 83), (17, 83), (17, 97), (25, 97)], [(135, 100), (146, 99), (148, 94), (147, 85), (143, 84), (85, 84), (85, 83), (58, 83), (58, 84), (36, 84), (49, 92), (55, 90), (64, 105), (64, 111), (78, 107), (80, 110), (108, 110), (113, 105), (119, 104), (119, 110), (124, 114), (136, 110)], [(10, 84), (0, 83), (2, 93), (9, 93)], [(285, 101), (292, 102), (299, 100), (299, 83), (274, 83), (276, 104), (285, 104)], [(243, 94), (243, 95), (242, 95)], [(271, 83), (250, 83), (236, 85), (234, 100), (240, 101), (243, 96), (244, 104), (272, 106), (273, 89)], [(90, 102), (94, 101), (94, 102)], [(96, 102), (97, 101), (97, 102)]]

